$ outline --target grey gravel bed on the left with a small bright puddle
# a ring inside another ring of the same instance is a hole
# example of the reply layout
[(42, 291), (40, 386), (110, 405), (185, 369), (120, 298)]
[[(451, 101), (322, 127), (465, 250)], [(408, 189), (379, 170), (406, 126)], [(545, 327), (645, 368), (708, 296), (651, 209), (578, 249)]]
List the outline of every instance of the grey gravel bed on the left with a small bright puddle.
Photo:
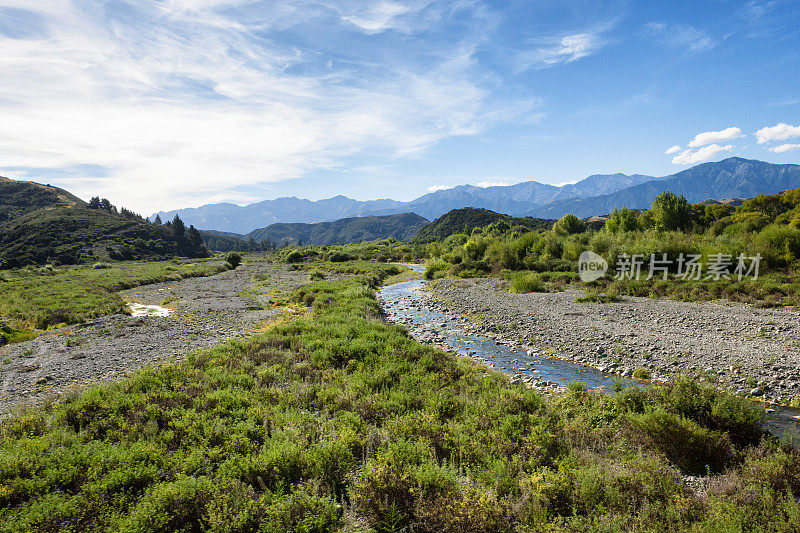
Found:
[(303, 271), (251, 262), (207, 278), (124, 291), (120, 294), (131, 302), (172, 312), (167, 317), (111, 315), (0, 348), (0, 413), (250, 335), (279, 313), (269, 305), (272, 296), (307, 279)]

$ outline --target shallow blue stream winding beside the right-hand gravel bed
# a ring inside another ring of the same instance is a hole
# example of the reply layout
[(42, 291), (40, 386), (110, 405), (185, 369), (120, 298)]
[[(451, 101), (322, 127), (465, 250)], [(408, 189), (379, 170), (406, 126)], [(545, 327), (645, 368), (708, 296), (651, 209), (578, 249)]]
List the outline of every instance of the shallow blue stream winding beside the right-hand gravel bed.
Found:
[[(416, 272), (420, 265), (406, 264)], [(459, 321), (429, 309), (421, 302), (419, 290), (425, 280), (405, 281), (384, 287), (380, 293), (387, 318), (406, 326), (418, 339), (442, 345), (450, 351), (480, 361), (536, 388), (563, 387), (580, 381), (586, 387), (611, 392), (614, 383), (623, 387), (647, 387), (648, 382), (579, 365), (525, 349), (499, 344), (494, 339), (470, 332)], [(800, 410), (770, 406), (767, 427), (776, 435), (800, 435)]]

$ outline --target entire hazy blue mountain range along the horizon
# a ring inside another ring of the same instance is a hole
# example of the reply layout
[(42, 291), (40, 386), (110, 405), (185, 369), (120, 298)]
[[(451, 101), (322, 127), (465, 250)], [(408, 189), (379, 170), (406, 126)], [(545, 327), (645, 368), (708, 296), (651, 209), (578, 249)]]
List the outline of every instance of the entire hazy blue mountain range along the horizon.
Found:
[(460, 185), (425, 194), (410, 202), (359, 201), (346, 196), (318, 201), (290, 197), (244, 207), (210, 204), (157, 214), (162, 220), (178, 214), (187, 224), (201, 229), (246, 234), (273, 223), (314, 223), (368, 215), (416, 213), (433, 220), (462, 207), (490, 209), (517, 217), (552, 219), (567, 213), (589, 217), (608, 213), (615, 207), (649, 207), (665, 190), (682, 194), (690, 202), (700, 202), (707, 198), (747, 198), (797, 187), (800, 187), (800, 165), (775, 165), (732, 157), (662, 177), (597, 174), (562, 186), (536, 181), (485, 188)]

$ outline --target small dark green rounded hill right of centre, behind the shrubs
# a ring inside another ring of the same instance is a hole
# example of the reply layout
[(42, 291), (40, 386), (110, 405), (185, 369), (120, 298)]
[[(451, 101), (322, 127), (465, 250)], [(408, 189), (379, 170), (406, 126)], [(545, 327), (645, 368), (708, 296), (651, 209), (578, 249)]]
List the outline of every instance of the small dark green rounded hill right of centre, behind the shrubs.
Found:
[(507, 220), (513, 225), (525, 226), (530, 229), (550, 229), (555, 222), (555, 220), (546, 218), (510, 217), (478, 207), (462, 207), (445, 213), (422, 228), (412, 242), (442, 241), (450, 235), (457, 233), (469, 234), (475, 228), (482, 228), (499, 220)]

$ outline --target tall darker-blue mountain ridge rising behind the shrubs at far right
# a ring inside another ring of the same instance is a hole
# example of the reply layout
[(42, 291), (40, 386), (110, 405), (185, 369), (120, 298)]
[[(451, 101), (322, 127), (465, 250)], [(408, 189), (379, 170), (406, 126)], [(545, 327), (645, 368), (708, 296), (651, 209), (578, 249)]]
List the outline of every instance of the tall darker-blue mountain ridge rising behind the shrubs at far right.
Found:
[(588, 217), (609, 213), (616, 207), (648, 208), (664, 191), (686, 197), (690, 203), (709, 198), (752, 198), (800, 187), (800, 165), (773, 165), (731, 157), (704, 163), (660, 180), (648, 181), (613, 194), (572, 198), (534, 207), (531, 216), (560, 218), (566, 213)]

